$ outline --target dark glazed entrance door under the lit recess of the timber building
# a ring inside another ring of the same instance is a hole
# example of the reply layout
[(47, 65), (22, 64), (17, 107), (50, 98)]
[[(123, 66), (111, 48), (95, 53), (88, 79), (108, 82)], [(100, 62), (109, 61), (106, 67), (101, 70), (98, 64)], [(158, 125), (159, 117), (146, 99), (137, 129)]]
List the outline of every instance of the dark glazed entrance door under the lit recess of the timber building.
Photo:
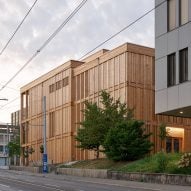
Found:
[(167, 153), (182, 152), (182, 138), (180, 138), (180, 137), (167, 137), (166, 138), (166, 152)]

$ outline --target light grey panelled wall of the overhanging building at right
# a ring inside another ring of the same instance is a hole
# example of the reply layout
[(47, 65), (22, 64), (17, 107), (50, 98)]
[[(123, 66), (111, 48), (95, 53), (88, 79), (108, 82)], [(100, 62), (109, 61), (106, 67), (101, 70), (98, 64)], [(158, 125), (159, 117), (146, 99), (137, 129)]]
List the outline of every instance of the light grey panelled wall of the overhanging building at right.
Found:
[[(163, 0), (155, 0), (159, 5)], [(167, 1), (155, 11), (155, 113), (180, 116), (182, 108), (191, 106), (191, 1), (188, 0), (188, 22), (179, 24), (179, 0), (176, 0), (176, 27), (168, 31)], [(179, 83), (179, 51), (188, 48), (188, 80)], [(176, 53), (176, 83), (167, 87), (167, 56)], [(191, 117), (191, 108), (182, 116)]]

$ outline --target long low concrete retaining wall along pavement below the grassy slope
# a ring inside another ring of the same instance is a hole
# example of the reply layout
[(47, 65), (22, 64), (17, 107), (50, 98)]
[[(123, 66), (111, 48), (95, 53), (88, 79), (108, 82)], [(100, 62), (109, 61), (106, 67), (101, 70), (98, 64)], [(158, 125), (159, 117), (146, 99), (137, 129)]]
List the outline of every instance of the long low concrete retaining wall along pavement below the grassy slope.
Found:
[(92, 178), (108, 178), (114, 180), (130, 180), (159, 184), (191, 185), (191, 176), (155, 173), (122, 173), (108, 170), (58, 168), (57, 174), (83, 176)]

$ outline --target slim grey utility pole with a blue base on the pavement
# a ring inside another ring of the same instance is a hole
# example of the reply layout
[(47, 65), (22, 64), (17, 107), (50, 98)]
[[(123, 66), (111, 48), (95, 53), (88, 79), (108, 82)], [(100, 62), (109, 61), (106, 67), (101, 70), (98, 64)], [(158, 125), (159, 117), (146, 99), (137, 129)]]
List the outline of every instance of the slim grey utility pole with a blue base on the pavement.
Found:
[(43, 173), (48, 172), (48, 157), (46, 152), (46, 96), (43, 96), (43, 147), (44, 147), (44, 153), (43, 153)]

